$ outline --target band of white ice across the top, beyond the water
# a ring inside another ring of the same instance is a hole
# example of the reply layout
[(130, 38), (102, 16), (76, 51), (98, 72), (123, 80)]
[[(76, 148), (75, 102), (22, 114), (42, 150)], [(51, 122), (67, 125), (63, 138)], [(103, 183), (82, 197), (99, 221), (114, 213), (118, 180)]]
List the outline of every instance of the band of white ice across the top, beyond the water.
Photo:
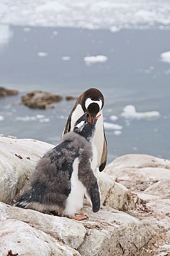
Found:
[(170, 27), (169, 0), (1, 0), (0, 22), (22, 26), (147, 29)]

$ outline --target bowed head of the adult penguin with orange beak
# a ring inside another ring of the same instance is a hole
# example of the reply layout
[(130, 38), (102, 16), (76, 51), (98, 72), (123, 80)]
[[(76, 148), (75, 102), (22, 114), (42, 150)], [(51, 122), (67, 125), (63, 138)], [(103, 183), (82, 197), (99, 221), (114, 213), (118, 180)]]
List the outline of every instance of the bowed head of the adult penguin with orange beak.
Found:
[(101, 116), (98, 113), (104, 105), (103, 94), (98, 89), (88, 89), (82, 94), (81, 105), (87, 121), (92, 126), (94, 121)]

